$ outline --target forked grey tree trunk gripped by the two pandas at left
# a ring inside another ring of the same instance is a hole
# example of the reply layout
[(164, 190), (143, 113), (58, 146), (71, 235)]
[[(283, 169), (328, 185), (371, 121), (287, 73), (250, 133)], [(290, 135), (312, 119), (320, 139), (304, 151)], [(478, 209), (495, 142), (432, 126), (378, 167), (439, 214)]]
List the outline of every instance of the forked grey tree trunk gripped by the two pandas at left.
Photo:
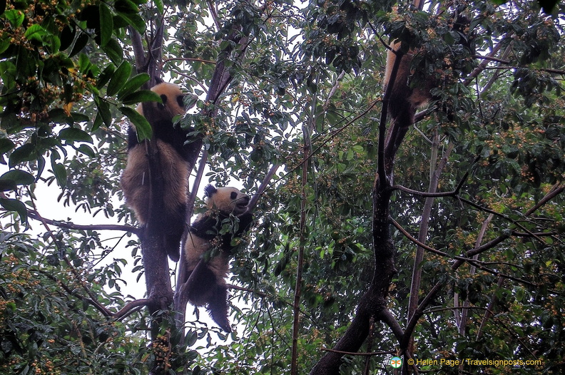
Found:
[[(146, 89), (151, 88), (156, 83), (161, 81), (159, 76), (162, 71), (162, 53), (163, 53), (163, 23), (162, 19), (156, 22), (154, 29), (146, 31), (147, 48), (149, 51), (145, 50), (143, 40), (144, 38), (137, 33), (137, 31), (130, 28), (133, 41), (133, 51), (136, 58), (136, 70), (137, 73), (148, 73), (150, 80), (146, 83)], [(215, 71), (213, 73), (213, 78), (210, 81), (210, 87), (208, 89), (208, 96), (206, 98), (206, 103), (212, 103), (215, 105), (218, 102), (218, 98), (223, 94), (225, 88), (232, 80), (232, 76), (225, 67), (225, 61), (227, 59), (240, 59), (243, 58), (245, 53), (245, 47), (248, 43), (248, 38), (240, 37), (240, 33), (234, 30), (229, 34), (225, 41), (229, 41), (228, 47), (224, 48), (223, 51), (219, 53), (218, 63), (216, 63)], [(218, 46), (222, 44), (223, 41), (218, 41)], [(233, 52), (236, 53), (233, 53)], [(203, 115), (213, 118), (216, 114), (213, 109), (214, 106), (210, 108), (205, 108), (203, 110)], [(146, 113), (146, 116), (151, 116), (151, 113)], [(149, 184), (150, 191), (163, 191), (163, 175), (162, 170), (159, 168), (159, 154), (156, 152), (156, 147), (152, 143), (146, 143), (147, 146), (147, 158), (149, 164)], [(200, 136), (195, 136), (192, 143), (190, 143), (190, 151), (188, 152), (188, 170), (192, 170), (198, 156), (200, 155), (200, 150), (202, 148), (202, 138)], [(151, 212), (158, 212), (158, 210), (163, 209), (163, 204), (161, 197), (156, 194), (150, 193), (149, 199), (149, 216), (151, 217)], [(190, 212), (192, 211), (194, 200), (192, 202), (187, 202), (188, 207), (190, 207)], [(160, 215), (155, 215), (159, 217)], [(173, 318), (178, 319), (179, 329), (183, 327), (184, 322), (184, 311), (186, 307), (186, 301), (182, 296), (179, 298), (173, 298), (173, 289), (170, 284), (170, 269), (168, 265), (168, 251), (164, 248), (167, 245), (163, 243), (163, 235), (161, 233), (158, 222), (154, 222), (151, 219), (148, 220), (145, 227), (140, 235), (141, 240), (141, 250), (143, 255), (143, 267), (145, 269), (146, 277), (146, 290), (148, 296), (148, 310), (153, 316), (153, 322), (151, 325), (151, 347), (155, 350), (155, 361), (151, 364), (151, 370), (149, 374), (158, 375), (166, 374), (170, 369), (170, 359), (175, 348), (170, 344), (170, 334), (172, 334), (172, 329), (175, 325), (172, 323)], [(180, 247), (180, 244), (178, 244)], [(180, 257), (179, 269), (183, 269), (184, 257)], [(180, 272), (183, 274), (183, 272)], [(181, 284), (178, 284), (179, 286)], [(178, 291), (175, 295), (180, 295)], [(176, 316), (173, 312), (183, 312), (182, 314), (177, 314)], [(164, 322), (164, 319), (170, 319), (168, 324)], [(182, 341), (182, 340), (181, 340)]]

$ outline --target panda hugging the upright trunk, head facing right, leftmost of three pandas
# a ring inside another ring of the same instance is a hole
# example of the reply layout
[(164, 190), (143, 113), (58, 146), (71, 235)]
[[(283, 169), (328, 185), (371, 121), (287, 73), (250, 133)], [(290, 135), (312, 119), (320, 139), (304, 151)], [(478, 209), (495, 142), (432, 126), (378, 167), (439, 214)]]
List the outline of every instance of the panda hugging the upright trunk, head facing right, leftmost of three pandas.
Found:
[(188, 185), (188, 146), (185, 145), (187, 131), (173, 125), (176, 115), (184, 115), (185, 94), (173, 83), (159, 83), (151, 91), (161, 97), (163, 103), (143, 103), (136, 110), (145, 115), (153, 129), (153, 145), (156, 148), (160, 173), (163, 177), (162, 191), (153, 192), (161, 200), (152, 207), (159, 212), (149, 215), (150, 184), (149, 162), (146, 155), (146, 140), (138, 142), (133, 124), (128, 129), (128, 163), (121, 177), (121, 186), (126, 202), (133, 209), (141, 226), (151, 219), (158, 232), (163, 233), (163, 246), (174, 262), (179, 259), (180, 240), (185, 230), (185, 214)]

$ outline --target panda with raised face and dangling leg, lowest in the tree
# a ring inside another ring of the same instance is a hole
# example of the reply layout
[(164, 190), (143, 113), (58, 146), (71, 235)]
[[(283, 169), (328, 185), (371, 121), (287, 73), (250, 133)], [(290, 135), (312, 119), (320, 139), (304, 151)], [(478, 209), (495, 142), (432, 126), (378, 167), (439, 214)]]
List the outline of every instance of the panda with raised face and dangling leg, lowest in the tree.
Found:
[[(230, 269), (232, 239), (245, 235), (253, 221), (248, 210), (250, 198), (235, 187), (213, 185), (205, 187), (205, 198), (207, 210), (196, 217), (184, 240), (186, 295), (194, 306), (206, 306), (214, 322), (225, 332), (231, 332), (225, 277)], [(233, 226), (220, 234), (226, 222)]]

